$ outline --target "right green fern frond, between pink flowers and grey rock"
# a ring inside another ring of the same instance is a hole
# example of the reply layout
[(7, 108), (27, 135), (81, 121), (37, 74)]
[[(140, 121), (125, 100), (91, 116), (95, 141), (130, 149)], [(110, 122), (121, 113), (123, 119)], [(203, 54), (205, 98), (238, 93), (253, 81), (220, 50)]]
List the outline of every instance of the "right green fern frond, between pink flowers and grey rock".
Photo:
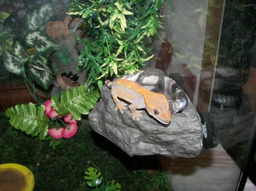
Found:
[(59, 102), (56, 96), (52, 96), (52, 106), (61, 116), (71, 113), (75, 120), (81, 120), (81, 114), (88, 114), (100, 97), (98, 88), (83, 85), (73, 90), (69, 89), (61, 95)]

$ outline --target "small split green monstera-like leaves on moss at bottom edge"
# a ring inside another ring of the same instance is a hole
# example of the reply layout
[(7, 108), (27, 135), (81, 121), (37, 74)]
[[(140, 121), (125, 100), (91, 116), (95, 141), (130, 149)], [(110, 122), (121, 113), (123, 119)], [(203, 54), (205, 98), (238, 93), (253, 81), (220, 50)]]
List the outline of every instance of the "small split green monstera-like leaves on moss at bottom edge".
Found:
[(92, 191), (120, 191), (121, 185), (114, 181), (102, 183), (103, 176), (98, 169), (89, 167), (85, 171), (85, 182), (89, 185)]

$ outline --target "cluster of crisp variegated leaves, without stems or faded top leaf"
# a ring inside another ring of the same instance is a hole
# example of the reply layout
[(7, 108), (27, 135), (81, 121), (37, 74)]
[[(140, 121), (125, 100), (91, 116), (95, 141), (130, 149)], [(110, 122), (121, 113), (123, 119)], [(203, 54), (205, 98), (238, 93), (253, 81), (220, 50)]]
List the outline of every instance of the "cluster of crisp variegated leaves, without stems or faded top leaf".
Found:
[(41, 31), (32, 31), (26, 37), (26, 43), (30, 47), (36, 48), (36, 53), (29, 55), (27, 50), (16, 41), (13, 51), (5, 51), (3, 58), (5, 67), (12, 73), (28, 73), (45, 90), (52, 83), (55, 73), (47, 66), (47, 58), (44, 57), (55, 50), (58, 45), (47, 35)]

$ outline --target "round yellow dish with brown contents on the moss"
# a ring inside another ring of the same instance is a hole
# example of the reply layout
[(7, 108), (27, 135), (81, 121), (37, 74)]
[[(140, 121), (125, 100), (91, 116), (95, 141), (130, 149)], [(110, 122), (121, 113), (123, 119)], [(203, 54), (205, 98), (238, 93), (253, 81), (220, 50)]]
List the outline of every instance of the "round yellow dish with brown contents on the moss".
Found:
[(0, 191), (33, 191), (35, 180), (32, 172), (20, 164), (0, 165)]

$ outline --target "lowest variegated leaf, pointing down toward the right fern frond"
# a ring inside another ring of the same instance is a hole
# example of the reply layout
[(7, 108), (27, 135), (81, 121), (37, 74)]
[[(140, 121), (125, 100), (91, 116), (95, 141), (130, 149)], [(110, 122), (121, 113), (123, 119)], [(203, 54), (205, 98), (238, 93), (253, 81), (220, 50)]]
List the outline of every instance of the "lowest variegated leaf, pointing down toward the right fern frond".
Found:
[(28, 74), (40, 86), (47, 90), (52, 83), (52, 76), (45, 67), (47, 66), (43, 64), (29, 64)]

